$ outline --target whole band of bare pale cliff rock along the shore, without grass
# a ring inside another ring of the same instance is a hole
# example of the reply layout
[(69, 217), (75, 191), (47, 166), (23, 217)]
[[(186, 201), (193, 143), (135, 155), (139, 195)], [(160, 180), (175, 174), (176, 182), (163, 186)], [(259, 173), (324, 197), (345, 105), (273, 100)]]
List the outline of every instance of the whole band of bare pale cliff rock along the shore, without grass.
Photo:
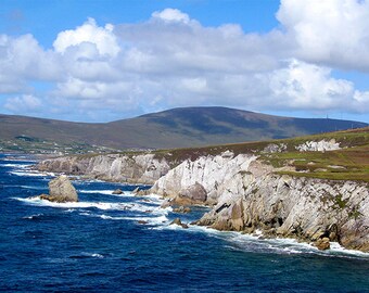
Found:
[[(328, 249), (369, 252), (368, 183), (279, 175), (254, 154), (231, 151), (184, 160), (174, 168), (154, 154), (47, 160), (40, 170), (150, 183), (168, 204), (213, 206), (196, 225), (295, 238)], [(144, 193), (144, 192), (143, 192)], [(142, 193), (141, 193), (142, 194)]]

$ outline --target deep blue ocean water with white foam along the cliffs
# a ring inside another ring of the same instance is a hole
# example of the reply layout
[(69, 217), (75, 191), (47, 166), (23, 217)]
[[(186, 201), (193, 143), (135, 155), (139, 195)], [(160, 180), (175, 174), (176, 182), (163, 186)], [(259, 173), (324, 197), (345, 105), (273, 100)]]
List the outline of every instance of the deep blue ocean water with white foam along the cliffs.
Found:
[(170, 226), (206, 209), (162, 209), (136, 186), (74, 180), (79, 203), (28, 200), (52, 178), (30, 164), (0, 154), (0, 291), (369, 292), (369, 254)]

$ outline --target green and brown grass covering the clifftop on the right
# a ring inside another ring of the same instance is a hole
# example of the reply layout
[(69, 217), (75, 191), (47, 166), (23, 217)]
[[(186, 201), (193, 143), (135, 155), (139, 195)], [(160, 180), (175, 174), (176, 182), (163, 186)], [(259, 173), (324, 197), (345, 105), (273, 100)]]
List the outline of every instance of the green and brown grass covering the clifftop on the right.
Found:
[[(306, 141), (327, 141), (331, 139), (340, 142), (340, 146), (343, 149), (327, 152), (298, 152), (295, 149)], [(264, 153), (263, 150), (270, 143), (284, 144), (287, 151)], [(260, 160), (276, 168), (292, 167), (294, 169), (293, 171), (279, 170), (278, 174), (369, 182), (369, 127), (292, 139), (162, 150), (153, 153), (158, 158), (165, 157), (174, 167), (184, 160), (194, 161), (200, 156), (217, 155), (227, 150), (232, 151), (236, 155), (241, 153), (259, 155)]]

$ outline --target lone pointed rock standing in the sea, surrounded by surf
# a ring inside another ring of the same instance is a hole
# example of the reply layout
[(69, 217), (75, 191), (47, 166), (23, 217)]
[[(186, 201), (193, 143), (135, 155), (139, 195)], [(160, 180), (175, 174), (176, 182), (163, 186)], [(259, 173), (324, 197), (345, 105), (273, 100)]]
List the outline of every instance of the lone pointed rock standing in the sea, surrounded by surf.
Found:
[(68, 177), (62, 175), (49, 182), (49, 195), (42, 194), (40, 199), (56, 203), (78, 202), (78, 194)]

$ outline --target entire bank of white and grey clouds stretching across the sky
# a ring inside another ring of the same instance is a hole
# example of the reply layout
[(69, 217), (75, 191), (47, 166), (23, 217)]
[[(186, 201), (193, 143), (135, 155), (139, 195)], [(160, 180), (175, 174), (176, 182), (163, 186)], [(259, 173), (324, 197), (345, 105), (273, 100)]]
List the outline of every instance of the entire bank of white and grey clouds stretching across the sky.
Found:
[[(0, 35), (0, 94), (16, 95), (3, 103), (12, 113), (42, 103), (60, 115), (111, 117), (189, 105), (366, 112), (369, 91), (333, 72), (369, 69), (368, 5), (282, 0), (281, 26), (264, 35), (206, 27), (176, 9), (136, 24), (88, 18), (51, 49), (31, 35)], [(43, 81), (51, 89), (29, 94)]]

